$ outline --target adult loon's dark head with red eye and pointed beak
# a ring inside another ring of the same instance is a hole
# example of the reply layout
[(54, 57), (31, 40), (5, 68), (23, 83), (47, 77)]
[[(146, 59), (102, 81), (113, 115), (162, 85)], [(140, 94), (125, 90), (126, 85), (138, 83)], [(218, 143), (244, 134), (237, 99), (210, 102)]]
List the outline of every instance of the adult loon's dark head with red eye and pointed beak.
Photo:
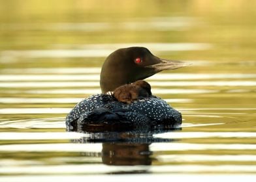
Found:
[(146, 79), (163, 70), (188, 66), (185, 62), (155, 57), (145, 47), (127, 47), (111, 53), (101, 68), (101, 91), (112, 92), (118, 86)]

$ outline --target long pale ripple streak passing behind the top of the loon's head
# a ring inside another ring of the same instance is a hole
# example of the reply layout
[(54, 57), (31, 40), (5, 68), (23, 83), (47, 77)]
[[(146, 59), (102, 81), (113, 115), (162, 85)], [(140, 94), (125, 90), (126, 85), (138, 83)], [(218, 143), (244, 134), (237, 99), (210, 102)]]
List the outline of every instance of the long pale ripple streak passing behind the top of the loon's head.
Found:
[(121, 47), (148, 47), (153, 52), (160, 51), (194, 51), (210, 49), (211, 44), (203, 43), (130, 43), (130, 44), (89, 44), (83, 49), (40, 49), (40, 50), (9, 50), (1, 51), (1, 57), (26, 58), (76, 58), (76, 57), (107, 57)]

